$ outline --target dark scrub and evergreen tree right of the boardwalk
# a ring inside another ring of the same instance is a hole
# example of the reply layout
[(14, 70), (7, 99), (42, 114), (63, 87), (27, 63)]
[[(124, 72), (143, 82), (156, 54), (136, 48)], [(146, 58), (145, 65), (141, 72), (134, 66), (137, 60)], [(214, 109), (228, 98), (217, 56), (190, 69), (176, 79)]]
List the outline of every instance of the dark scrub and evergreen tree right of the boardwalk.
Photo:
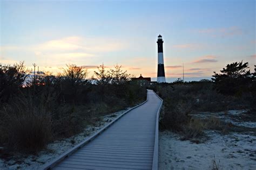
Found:
[(256, 79), (255, 72), (248, 70), (248, 63), (228, 64), (220, 72), (214, 72), (212, 81), (183, 83), (177, 79), (170, 84), (151, 86), (164, 100), (160, 129), (180, 133), (183, 139), (198, 142), (204, 137), (205, 129), (225, 133), (230, 125), (215, 117), (202, 121), (193, 118), (193, 113), (245, 109), (255, 115)]

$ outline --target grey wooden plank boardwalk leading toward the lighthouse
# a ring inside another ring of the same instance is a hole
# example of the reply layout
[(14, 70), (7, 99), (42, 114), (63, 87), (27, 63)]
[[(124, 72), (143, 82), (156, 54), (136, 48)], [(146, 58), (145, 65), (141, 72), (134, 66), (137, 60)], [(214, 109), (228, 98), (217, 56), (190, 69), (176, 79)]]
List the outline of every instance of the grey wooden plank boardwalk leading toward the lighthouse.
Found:
[(161, 105), (162, 100), (148, 90), (144, 104), (124, 114), (52, 169), (157, 169), (156, 122)]

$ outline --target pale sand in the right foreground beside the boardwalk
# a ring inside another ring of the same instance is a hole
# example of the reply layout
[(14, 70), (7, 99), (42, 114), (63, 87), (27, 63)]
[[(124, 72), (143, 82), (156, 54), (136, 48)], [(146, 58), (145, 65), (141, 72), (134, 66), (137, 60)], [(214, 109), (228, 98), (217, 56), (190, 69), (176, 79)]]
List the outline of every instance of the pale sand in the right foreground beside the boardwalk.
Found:
[(159, 133), (159, 169), (256, 169), (256, 137), (206, 132), (211, 139), (203, 144), (180, 141), (179, 135)]

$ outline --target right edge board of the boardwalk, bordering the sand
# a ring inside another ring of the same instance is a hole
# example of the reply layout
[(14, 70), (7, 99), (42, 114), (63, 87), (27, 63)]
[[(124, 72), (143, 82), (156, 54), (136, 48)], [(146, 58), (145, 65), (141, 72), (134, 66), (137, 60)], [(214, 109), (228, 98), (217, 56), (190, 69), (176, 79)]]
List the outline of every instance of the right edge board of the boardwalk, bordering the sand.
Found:
[(159, 121), (159, 115), (161, 112), (161, 109), (163, 107), (163, 99), (161, 99), (156, 92), (154, 92), (156, 96), (161, 100), (161, 104), (157, 111), (157, 118), (156, 118), (156, 134), (154, 137), (154, 154), (153, 154), (153, 162), (152, 162), (152, 169), (157, 170), (158, 169), (158, 121)]

